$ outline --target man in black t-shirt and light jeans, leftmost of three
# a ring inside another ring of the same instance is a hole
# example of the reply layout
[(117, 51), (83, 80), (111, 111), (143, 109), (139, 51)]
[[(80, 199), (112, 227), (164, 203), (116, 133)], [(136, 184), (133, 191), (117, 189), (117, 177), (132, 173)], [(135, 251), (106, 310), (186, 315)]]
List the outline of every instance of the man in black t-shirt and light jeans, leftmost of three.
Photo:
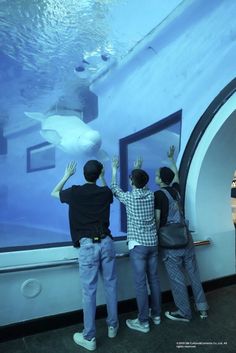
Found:
[[(96, 349), (95, 314), (99, 270), (107, 303), (108, 337), (115, 337), (118, 330), (115, 248), (109, 229), (113, 196), (105, 183), (103, 165), (97, 160), (90, 160), (84, 165), (84, 185), (73, 185), (63, 190), (75, 171), (76, 163), (69, 163), (51, 195), (69, 205), (71, 238), (74, 247), (78, 248), (84, 330), (75, 333), (73, 339), (76, 344), (92, 351)], [(103, 186), (96, 185), (98, 178)]]

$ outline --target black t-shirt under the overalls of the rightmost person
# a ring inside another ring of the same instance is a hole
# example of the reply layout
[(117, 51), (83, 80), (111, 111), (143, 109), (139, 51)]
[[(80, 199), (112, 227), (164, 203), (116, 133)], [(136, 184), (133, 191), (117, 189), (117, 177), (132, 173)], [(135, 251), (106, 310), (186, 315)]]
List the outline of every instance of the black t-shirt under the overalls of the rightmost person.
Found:
[[(174, 200), (177, 199), (178, 193), (180, 191), (179, 184), (174, 183), (172, 186), (167, 186), (166, 189)], [(160, 227), (164, 226), (167, 222), (168, 212), (169, 212), (169, 200), (167, 196), (161, 190), (155, 191), (155, 209), (161, 211), (160, 215)]]

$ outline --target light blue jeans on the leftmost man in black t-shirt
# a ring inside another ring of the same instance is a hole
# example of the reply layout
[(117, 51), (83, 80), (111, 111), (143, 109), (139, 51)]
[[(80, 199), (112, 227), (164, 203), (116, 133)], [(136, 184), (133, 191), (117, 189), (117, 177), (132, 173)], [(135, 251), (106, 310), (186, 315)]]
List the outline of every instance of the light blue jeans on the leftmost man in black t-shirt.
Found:
[(100, 243), (82, 238), (78, 252), (84, 314), (83, 335), (90, 340), (96, 335), (96, 292), (99, 272), (104, 283), (107, 325), (116, 327), (118, 324), (115, 247), (109, 236), (102, 239)]

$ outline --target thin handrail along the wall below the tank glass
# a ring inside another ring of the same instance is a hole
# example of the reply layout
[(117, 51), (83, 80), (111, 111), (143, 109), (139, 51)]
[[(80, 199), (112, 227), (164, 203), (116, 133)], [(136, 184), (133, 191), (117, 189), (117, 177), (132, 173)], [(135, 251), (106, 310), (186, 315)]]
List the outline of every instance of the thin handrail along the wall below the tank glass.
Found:
[[(211, 242), (209, 239), (194, 241), (195, 246), (209, 245), (210, 243)], [(116, 254), (117, 259), (123, 259), (125, 257), (129, 257), (128, 252)], [(38, 269), (52, 268), (52, 267), (63, 267), (63, 266), (69, 266), (69, 265), (79, 265), (78, 258), (65, 259), (65, 260), (59, 260), (59, 261), (50, 261), (50, 262), (40, 262), (35, 264), (24, 264), (24, 265), (17, 265), (17, 266), (5, 266), (0, 268), (0, 274), (38, 270)]]

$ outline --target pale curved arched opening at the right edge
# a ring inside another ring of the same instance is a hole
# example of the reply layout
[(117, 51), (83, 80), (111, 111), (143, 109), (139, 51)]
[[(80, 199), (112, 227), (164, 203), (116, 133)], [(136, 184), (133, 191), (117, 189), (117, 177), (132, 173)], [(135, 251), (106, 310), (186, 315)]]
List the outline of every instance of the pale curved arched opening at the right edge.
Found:
[(182, 175), (184, 163), (188, 166), (185, 172), (185, 211), (196, 232), (194, 237), (212, 241), (212, 246), (203, 250), (208, 252), (207, 256), (199, 253), (200, 267), (206, 279), (210, 277), (209, 267), (215, 277), (235, 273), (235, 228), (230, 193), (236, 165), (235, 108), (236, 93), (231, 90), (231, 95), (228, 92), (227, 99), (213, 110), (207, 126), (202, 126), (197, 143), (196, 140), (195, 144), (190, 141), (192, 150), (188, 146), (187, 152), (191, 159), (188, 158), (186, 163), (185, 151), (181, 164)]

